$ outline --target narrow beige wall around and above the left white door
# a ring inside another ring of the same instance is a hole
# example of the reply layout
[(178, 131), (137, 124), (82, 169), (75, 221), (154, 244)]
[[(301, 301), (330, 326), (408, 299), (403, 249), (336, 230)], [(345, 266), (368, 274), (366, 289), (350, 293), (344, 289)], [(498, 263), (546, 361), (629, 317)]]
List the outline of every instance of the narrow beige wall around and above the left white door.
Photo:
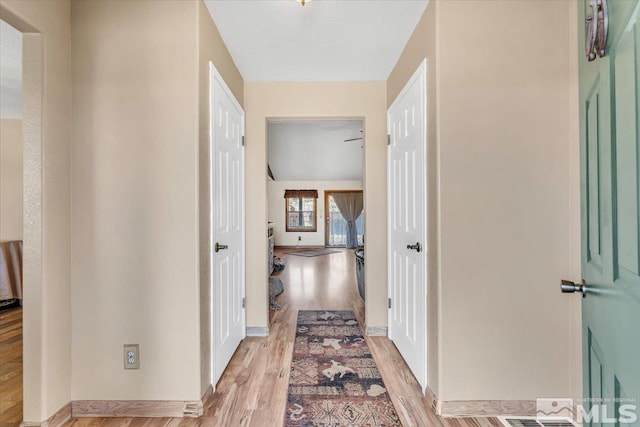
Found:
[(198, 1), (198, 105), (199, 105), (199, 229), (200, 229), (200, 389), (211, 383), (211, 188), (209, 185), (209, 61), (213, 61), (225, 83), (242, 105), (244, 82), (229, 55), (203, 1)]

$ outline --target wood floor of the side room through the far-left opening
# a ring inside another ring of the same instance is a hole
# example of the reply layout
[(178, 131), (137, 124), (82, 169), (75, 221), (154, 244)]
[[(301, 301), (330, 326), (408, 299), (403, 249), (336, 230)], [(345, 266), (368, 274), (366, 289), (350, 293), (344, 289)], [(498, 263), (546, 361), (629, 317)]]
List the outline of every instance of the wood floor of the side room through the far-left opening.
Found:
[(0, 427), (22, 422), (22, 307), (0, 311)]

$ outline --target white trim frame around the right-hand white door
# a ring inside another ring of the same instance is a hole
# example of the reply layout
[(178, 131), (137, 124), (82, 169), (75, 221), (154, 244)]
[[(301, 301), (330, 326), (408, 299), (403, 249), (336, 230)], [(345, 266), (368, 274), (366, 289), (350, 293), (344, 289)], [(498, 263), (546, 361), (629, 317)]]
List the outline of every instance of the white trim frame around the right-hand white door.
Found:
[[(429, 277), (429, 263), (428, 263), (428, 259), (427, 259), (427, 255), (429, 253), (429, 247), (430, 244), (427, 241), (427, 226), (428, 226), (428, 218), (429, 218), (429, 211), (427, 209), (428, 207), (428, 196), (429, 196), (429, 188), (427, 186), (427, 167), (428, 167), (428, 163), (427, 163), (427, 96), (428, 96), (428, 92), (427, 92), (427, 59), (423, 59), (422, 62), (420, 63), (420, 65), (418, 65), (417, 69), (414, 71), (414, 73), (411, 75), (411, 77), (409, 79), (407, 79), (404, 87), (402, 88), (402, 90), (400, 91), (400, 93), (398, 94), (398, 96), (396, 96), (396, 98), (393, 100), (393, 102), (391, 103), (391, 105), (387, 108), (387, 136), (389, 138), (391, 138), (391, 123), (390, 123), (390, 118), (389, 118), (389, 111), (394, 108), (396, 106), (396, 104), (407, 94), (407, 92), (409, 91), (411, 84), (416, 81), (417, 79), (422, 78), (423, 79), (423, 87), (424, 87), (424, 99), (422, 100), (422, 104), (423, 104), (423, 109), (424, 109), (424, 131), (422, 133), (422, 146), (423, 146), (423, 158), (422, 158), (422, 163), (424, 164), (424, 173), (422, 174), (422, 185), (423, 185), (423, 209), (424, 209), (424, 217), (422, 218), (423, 221), (423, 227), (422, 227), (422, 236), (420, 236), (420, 241), (424, 242), (424, 275), (423, 275), (423, 281), (422, 281), (422, 297), (423, 297), (423, 302), (424, 304), (419, 304), (418, 307), (421, 308), (420, 313), (419, 313), (419, 322), (423, 325), (424, 327), (424, 345), (421, 348), (421, 357), (420, 360), (424, 361), (424, 375), (422, 375), (422, 378), (417, 378), (417, 375), (415, 373), (414, 376), (416, 376), (416, 379), (418, 380), (418, 383), (420, 384), (421, 388), (423, 389), (423, 391), (426, 391), (428, 388), (428, 372), (429, 372), (429, 360), (428, 360), (428, 351), (427, 351), (427, 346), (428, 346), (428, 336), (427, 336), (427, 331), (428, 331), (428, 305), (427, 305), (427, 298), (428, 298), (428, 277)], [(393, 287), (392, 287), (392, 265), (393, 265), (393, 260), (392, 258), (392, 250), (391, 250), (391, 244), (390, 244), (390, 239), (391, 239), (391, 229), (392, 229), (392, 224), (391, 224), (391, 218), (392, 218), (392, 206), (391, 206), (391, 202), (390, 202), (390, 197), (389, 197), (389, 193), (391, 190), (391, 156), (390, 156), (390, 151), (391, 151), (391, 144), (389, 142), (389, 145), (387, 145), (387, 297), (389, 298), (389, 300), (391, 301), (391, 298), (393, 296)], [(390, 340), (393, 341), (393, 322), (392, 322), (392, 315), (391, 315), (391, 310), (392, 308), (389, 307), (388, 311), (387, 311), (387, 325), (388, 325), (388, 337)]]

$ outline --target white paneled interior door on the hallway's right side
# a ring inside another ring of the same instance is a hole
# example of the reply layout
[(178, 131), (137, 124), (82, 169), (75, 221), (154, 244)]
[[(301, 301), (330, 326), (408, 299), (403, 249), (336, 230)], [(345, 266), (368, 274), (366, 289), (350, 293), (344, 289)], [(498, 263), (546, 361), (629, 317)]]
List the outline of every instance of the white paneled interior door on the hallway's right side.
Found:
[(387, 112), (389, 338), (426, 386), (426, 61)]

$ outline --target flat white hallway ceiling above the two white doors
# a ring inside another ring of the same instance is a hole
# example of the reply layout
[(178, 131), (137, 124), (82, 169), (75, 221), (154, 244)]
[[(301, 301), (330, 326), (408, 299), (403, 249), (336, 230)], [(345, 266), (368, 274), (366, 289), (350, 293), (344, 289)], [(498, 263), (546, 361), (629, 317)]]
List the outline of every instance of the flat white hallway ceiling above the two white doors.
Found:
[(428, 0), (205, 0), (246, 81), (386, 80)]

